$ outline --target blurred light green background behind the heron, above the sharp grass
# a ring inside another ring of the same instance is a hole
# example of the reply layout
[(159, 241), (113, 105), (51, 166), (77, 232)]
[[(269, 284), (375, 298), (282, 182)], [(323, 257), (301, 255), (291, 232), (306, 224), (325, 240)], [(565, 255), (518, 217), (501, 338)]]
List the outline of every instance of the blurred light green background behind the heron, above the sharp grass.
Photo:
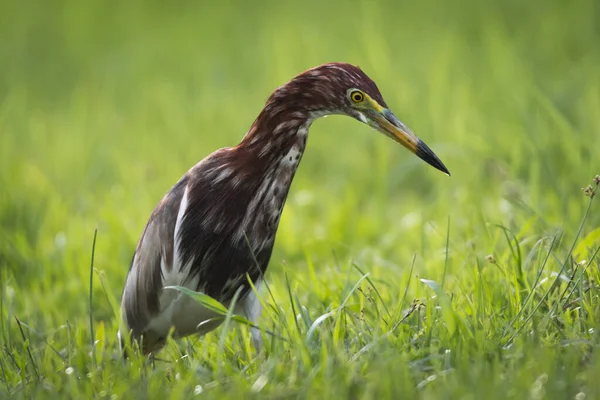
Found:
[[(386, 301), (407, 285), (423, 296), (408, 283), (415, 255), (418, 277), (468, 298), (485, 256), (508, 251), (496, 224), (529, 250), (561, 229), (574, 238), (581, 188), (600, 173), (598, 1), (4, 0), (5, 345), (15, 315), (57, 348), (66, 321), (86, 332), (96, 227), (93, 316), (113, 335), (161, 196), (237, 144), (273, 89), (329, 61), (373, 78), (452, 177), (350, 118), (317, 121), (269, 270), (277, 302), (285, 270), (309, 309), (339, 304), (351, 262)], [(599, 224), (592, 212), (583, 235)], [(493, 285), (501, 274), (489, 269)]]

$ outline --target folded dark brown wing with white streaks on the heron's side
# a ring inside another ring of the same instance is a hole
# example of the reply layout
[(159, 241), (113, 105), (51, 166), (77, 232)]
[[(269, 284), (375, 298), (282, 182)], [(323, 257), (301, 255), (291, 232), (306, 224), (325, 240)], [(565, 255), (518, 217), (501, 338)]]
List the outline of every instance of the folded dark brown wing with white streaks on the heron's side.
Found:
[(260, 278), (274, 240), (261, 210), (265, 196), (257, 197), (262, 183), (222, 149), (165, 195), (142, 233), (123, 290), (128, 329), (142, 334), (168, 306), (165, 285), (185, 285), (227, 302), (247, 283), (246, 274), (254, 282)]

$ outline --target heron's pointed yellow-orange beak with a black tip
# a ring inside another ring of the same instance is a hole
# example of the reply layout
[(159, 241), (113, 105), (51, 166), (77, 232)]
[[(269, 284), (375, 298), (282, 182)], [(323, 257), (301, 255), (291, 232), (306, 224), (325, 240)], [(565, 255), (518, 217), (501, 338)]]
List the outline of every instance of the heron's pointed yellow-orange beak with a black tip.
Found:
[(404, 125), (387, 108), (380, 107), (379, 110), (373, 110), (371, 114), (373, 122), (376, 124), (376, 129), (381, 131), (386, 136), (391, 137), (402, 146), (406, 147), (417, 157), (425, 161), (427, 164), (450, 176), (450, 171), (443, 162), (435, 155), (435, 153), (421, 139), (419, 139), (409, 127)]

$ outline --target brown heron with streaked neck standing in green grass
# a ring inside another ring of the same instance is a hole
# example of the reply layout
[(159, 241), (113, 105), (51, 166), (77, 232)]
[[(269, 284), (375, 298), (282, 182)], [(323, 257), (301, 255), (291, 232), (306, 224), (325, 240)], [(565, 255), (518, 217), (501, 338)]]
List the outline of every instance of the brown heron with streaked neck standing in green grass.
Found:
[[(360, 67), (330, 62), (301, 72), (272, 92), (239, 144), (192, 166), (152, 211), (123, 286), (122, 349), (129, 338), (142, 354), (156, 354), (169, 335), (201, 336), (221, 324), (214, 310), (170, 286), (227, 307), (237, 293), (234, 312), (258, 323), (261, 287), (309, 128), (336, 114), (374, 128), (450, 176)], [(250, 331), (260, 351), (258, 325)]]

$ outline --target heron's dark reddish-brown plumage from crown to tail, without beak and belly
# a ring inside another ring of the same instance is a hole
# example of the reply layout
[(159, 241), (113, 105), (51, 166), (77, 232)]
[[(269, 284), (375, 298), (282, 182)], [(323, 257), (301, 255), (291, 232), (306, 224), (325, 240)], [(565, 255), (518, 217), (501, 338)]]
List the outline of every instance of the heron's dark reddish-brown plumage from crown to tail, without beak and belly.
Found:
[[(236, 147), (200, 161), (165, 195), (142, 233), (123, 292), (124, 320), (134, 338), (150, 336), (160, 347), (166, 335), (147, 331), (168, 307), (160, 304), (164, 274), (183, 273), (181, 285), (197, 282), (193, 289), (224, 303), (240, 287), (248, 292), (247, 275), (262, 278), (308, 128), (322, 115), (354, 116), (349, 88), (385, 107), (375, 83), (358, 67), (330, 63), (310, 69), (273, 92)], [(175, 232), (186, 191), (187, 208)]]

